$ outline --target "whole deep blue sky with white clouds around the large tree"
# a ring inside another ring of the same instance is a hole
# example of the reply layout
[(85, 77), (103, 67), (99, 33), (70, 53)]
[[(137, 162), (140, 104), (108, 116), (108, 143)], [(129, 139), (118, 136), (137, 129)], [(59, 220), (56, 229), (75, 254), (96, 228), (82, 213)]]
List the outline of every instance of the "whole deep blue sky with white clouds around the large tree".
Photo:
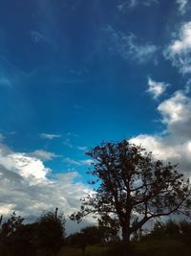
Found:
[(190, 12), (190, 0), (0, 0), (0, 215), (72, 214), (91, 191), (85, 152), (103, 141), (190, 175)]

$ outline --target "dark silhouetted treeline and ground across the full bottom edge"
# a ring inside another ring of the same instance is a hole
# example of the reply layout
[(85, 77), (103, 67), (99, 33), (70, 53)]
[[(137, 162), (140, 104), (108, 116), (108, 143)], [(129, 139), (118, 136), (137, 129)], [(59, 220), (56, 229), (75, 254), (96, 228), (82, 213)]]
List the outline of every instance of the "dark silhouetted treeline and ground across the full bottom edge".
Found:
[[(74, 255), (190, 255), (191, 222), (188, 221), (156, 222), (147, 232), (140, 229), (131, 237), (129, 254), (114, 227), (87, 226), (67, 236), (65, 223), (57, 208), (27, 224), (21, 216), (12, 213), (0, 227), (0, 256), (64, 256), (68, 248), (73, 248)], [(93, 247), (88, 252), (87, 248), (93, 245), (101, 249), (94, 251), (96, 247)]]

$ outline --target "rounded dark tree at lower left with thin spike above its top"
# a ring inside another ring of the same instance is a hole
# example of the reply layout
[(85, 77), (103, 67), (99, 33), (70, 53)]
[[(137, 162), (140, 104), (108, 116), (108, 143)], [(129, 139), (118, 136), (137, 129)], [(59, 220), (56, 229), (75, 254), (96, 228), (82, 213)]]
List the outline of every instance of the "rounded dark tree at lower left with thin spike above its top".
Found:
[(49, 211), (41, 215), (36, 226), (36, 245), (37, 248), (54, 253), (56, 256), (65, 237), (65, 218)]

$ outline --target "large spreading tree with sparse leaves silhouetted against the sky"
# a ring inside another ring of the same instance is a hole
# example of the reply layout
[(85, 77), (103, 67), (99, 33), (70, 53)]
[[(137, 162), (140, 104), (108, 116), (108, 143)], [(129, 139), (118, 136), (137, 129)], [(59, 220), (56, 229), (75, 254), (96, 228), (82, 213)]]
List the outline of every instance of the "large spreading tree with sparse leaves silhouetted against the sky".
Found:
[(155, 160), (152, 152), (123, 140), (102, 143), (87, 154), (94, 159), (89, 174), (95, 193), (82, 198), (79, 212), (71, 216), (80, 221), (88, 214), (115, 222), (123, 242), (151, 219), (171, 214), (190, 215), (189, 180), (177, 165)]

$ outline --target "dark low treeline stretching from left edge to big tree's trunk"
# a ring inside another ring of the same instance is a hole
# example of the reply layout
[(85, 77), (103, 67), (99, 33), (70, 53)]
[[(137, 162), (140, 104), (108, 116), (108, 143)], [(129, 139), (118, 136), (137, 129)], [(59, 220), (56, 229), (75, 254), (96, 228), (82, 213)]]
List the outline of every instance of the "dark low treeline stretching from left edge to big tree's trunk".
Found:
[(0, 225), (0, 256), (56, 256), (65, 246), (75, 247), (84, 255), (89, 245), (119, 241), (114, 227), (101, 224), (87, 226), (67, 236), (65, 223), (65, 217), (58, 214), (58, 208), (43, 213), (32, 223), (24, 223), (24, 218), (13, 212)]

